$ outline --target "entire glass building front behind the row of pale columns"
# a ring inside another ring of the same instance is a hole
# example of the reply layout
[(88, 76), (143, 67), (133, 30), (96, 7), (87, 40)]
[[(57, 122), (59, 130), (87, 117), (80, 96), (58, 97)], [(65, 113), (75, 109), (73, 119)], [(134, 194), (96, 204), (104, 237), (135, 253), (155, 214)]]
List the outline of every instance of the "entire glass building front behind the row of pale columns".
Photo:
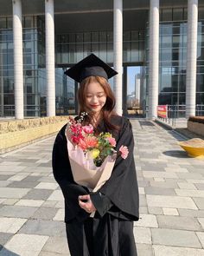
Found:
[[(177, 108), (183, 109), (178, 112), (178, 116), (185, 115), (187, 15), (187, 8), (160, 9), (158, 101), (159, 105), (176, 105)], [(47, 115), (44, 16), (24, 16), (22, 26), (24, 115), (44, 116)], [(64, 34), (55, 31), (56, 115), (77, 113), (78, 84), (64, 75), (64, 71), (90, 53), (113, 65), (112, 30)], [(143, 24), (141, 30), (124, 30), (123, 63), (124, 113), (133, 107), (143, 109), (145, 112), (148, 108), (149, 95), (148, 21)], [(140, 82), (136, 85), (138, 77)], [(140, 88), (138, 89), (137, 86)], [(204, 10), (202, 8), (199, 8), (198, 22), (196, 104), (198, 110), (204, 105)], [(8, 16), (0, 17), (0, 116), (14, 116), (14, 112), (13, 30), (12, 18)]]

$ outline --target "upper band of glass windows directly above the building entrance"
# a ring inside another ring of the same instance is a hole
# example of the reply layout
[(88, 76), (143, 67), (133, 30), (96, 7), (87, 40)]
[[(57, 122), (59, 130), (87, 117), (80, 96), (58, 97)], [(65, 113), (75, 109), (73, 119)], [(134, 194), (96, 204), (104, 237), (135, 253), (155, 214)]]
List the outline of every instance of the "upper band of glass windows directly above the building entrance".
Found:
[[(56, 36), (57, 65), (80, 62), (90, 53), (112, 64), (113, 32), (96, 31)], [(123, 55), (123, 62), (126, 63), (144, 61), (143, 31), (124, 31)]]

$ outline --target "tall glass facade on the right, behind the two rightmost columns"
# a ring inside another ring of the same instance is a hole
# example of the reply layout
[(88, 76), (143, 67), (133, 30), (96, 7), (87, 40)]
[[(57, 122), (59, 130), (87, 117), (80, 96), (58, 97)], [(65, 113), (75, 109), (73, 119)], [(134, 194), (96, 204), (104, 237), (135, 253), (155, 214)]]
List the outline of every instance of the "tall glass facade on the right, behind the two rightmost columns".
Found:
[[(149, 31), (147, 30), (147, 37)], [(177, 117), (185, 116), (187, 72), (187, 9), (161, 9), (159, 26), (159, 95), (158, 104), (168, 104)], [(148, 42), (148, 38), (147, 38)], [(147, 57), (149, 48), (147, 48)], [(147, 59), (147, 66), (149, 65)], [(148, 71), (146, 77), (148, 81)], [(148, 102), (148, 87), (147, 87)], [(204, 115), (204, 10), (199, 10), (196, 115)]]

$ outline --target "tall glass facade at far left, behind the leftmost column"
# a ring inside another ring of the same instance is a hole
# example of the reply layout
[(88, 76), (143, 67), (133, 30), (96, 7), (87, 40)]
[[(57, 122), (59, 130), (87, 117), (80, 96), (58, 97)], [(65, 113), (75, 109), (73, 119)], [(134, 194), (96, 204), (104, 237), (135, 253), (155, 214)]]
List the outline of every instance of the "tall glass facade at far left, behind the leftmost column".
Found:
[[(45, 111), (45, 36), (40, 17), (28, 16), (22, 21), (23, 102), (25, 116), (40, 116)], [(0, 18), (0, 88), (1, 116), (15, 115), (14, 50), (11, 18)]]

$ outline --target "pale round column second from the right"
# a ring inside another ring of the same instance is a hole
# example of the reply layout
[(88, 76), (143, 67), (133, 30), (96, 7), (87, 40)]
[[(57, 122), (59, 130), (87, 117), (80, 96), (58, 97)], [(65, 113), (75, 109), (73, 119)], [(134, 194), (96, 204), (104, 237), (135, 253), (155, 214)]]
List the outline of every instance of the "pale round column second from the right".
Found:
[(150, 73), (148, 117), (157, 117), (159, 84), (159, 0), (150, 0)]

